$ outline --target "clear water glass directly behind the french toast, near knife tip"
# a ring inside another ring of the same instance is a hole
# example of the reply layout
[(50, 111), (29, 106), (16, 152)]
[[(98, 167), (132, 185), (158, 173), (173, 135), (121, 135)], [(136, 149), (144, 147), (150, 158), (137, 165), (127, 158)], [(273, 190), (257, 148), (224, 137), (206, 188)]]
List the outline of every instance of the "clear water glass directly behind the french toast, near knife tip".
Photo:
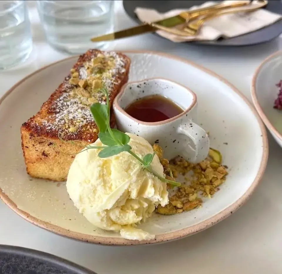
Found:
[(70, 54), (105, 48), (105, 42), (93, 43), (90, 38), (113, 32), (113, 2), (38, 0), (38, 12), (48, 43)]

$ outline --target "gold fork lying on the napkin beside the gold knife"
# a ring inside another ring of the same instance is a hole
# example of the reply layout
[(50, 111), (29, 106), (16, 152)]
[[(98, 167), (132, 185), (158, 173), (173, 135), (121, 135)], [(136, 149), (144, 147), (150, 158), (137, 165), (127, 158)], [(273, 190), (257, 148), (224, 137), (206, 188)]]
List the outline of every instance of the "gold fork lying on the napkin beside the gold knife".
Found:
[[(236, 12), (255, 11), (256, 9), (260, 9), (263, 6), (266, 6), (267, 3), (268, 3), (268, 1), (266, 1), (266, 0), (261, 0), (260, 2), (262, 2), (260, 5), (253, 5), (253, 6), (250, 6), (250, 7), (247, 7), (248, 5), (246, 5), (246, 3), (244, 5), (242, 3), (236, 3), (235, 7), (246, 6), (246, 9), (243, 9), (243, 10), (242, 9), (236, 9), (236, 10), (231, 10), (231, 11), (214, 12), (214, 9), (213, 9), (212, 12), (210, 12), (210, 11), (208, 13), (206, 12), (207, 14), (204, 15), (204, 18), (199, 19), (194, 23), (193, 22), (189, 23), (189, 21), (191, 21), (191, 20), (193, 20), (193, 19), (195, 19), (199, 16), (202, 16), (203, 14), (199, 14), (199, 13), (195, 14), (195, 15), (192, 14), (190, 17), (189, 16), (184, 17), (184, 15), (181, 15), (184, 19), (186, 19), (188, 21), (188, 23), (185, 24), (185, 26), (182, 30), (160, 26), (160, 25), (155, 24), (155, 23), (147, 23), (147, 24), (150, 24), (151, 26), (155, 27), (156, 29), (166, 31), (170, 34), (174, 34), (174, 35), (177, 35), (177, 36), (194, 36), (199, 32), (201, 26), (203, 25), (203, 23), (206, 20), (215, 18), (217, 16), (221, 16), (223, 14), (232, 14), (232, 13), (236, 13)], [(239, 4), (241, 4), (241, 5), (239, 5)], [(227, 9), (233, 9), (233, 8), (234, 8), (234, 4), (227, 6)], [(218, 9), (219, 8), (217, 8), (217, 10)], [(224, 7), (224, 8), (220, 7), (220, 9), (226, 9), (226, 7)]]

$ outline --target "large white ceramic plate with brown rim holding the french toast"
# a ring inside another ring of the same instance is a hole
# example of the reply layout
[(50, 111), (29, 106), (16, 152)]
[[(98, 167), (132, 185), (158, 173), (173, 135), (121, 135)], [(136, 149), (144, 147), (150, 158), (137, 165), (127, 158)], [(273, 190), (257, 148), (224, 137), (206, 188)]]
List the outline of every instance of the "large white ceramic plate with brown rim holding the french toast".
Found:
[(150, 241), (120, 238), (95, 228), (78, 213), (65, 183), (26, 174), (20, 126), (35, 114), (77, 60), (71, 57), (41, 68), (11, 88), (0, 101), (0, 196), (29, 222), (54, 233), (91, 243), (134, 245), (175, 240), (204, 230), (229, 216), (251, 195), (266, 167), (266, 131), (249, 102), (230, 83), (196, 64), (154, 52), (125, 51), (131, 60), (130, 81), (167, 78), (187, 86), (198, 97), (198, 123), (221, 151), (229, 176), (212, 199), (197, 210), (177, 215), (155, 214), (140, 228), (155, 234)]

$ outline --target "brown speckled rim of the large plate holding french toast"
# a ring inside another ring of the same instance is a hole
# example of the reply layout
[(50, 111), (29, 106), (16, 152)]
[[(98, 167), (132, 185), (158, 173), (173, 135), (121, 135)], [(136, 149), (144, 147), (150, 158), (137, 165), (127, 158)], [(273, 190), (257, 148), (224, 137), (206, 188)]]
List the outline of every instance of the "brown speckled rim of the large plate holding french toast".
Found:
[[(1, 188), (0, 188), (0, 198), (15, 213), (17, 213), (19, 216), (21, 216), (22, 218), (24, 218), (28, 222), (30, 222), (30, 223), (32, 223), (32, 224), (34, 224), (34, 225), (36, 225), (40, 228), (49, 230), (49, 231), (51, 231), (55, 234), (58, 234), (58, 235), (61, 235), (61, 236), (67, 237), (67, 238), (71, 238), (71, 239), (74, 239), (74, 240), (84, 241), (84, 242), (87, 242), (87, 243), (101, 244), (101, 245), (145, 245), (145, 244), (154, 244), (154, 243), (167, 242), (167, 241), (171, 241), (171, 240), (177, 240), (177, 239), (184, 238), (186, 236), (198, 233), (202, 230), (205, 230), (205, 229), (209, 228), (210, 226), (212, 226), (212, 225), (220, 222), (221, 220), (225, 219), (229, 215), (231, 215), (235, 210), (240, 208), (241, 205), (243, 205), (248, 200), (248, 198), (251, 196), (251, 194), (254, 192), (256, 186), (258, 186), (259, 181), (261, 180), (261, 178), (263, 176), (263, 173), (265, 171), (266, 164), (267, 164), (268, 140), (267, 140), (266, 129), (265, 129), (263, 122), (261, 121), (261, 118), (259, 117), (258, 113), (254, 109), (254, 107), (251, 105), (251, 103), (248, 101), (248, 99), (237, 88), (235, 88), (235, 86), (233, 86), (231, 83), (229, 83), (228, 81), (226, 81), (224, 78), (217, 75), (213, 71), (210, 71), (209, 69), (204, 68), (200, 65), (197, 65), (197, 64), (195, 64), (191, 61), (183, 60), (180, 57), (177, 57), (177, 56), (174, 56), (174, 55), (171, 55), (171, 54), (165, 54), (165, 53), (157, 52), (157, 51), (127, 51), (127, 50), (125, 50), (125, 51), (117, 50), (117, 51), (120, 51), (120, 52), (125, 53), (125, 54), (127, 54), (127, 53), (131, 53), (131, 54), (153, 54), (153, 55), (163, 56), (163, 57), (166, 57), (166, 58), (169, 58), (169, 59), (172, 59), (172, 60), (184, 62), (186, 64), (189, 64), (190, 66), (194, 66), (195, 68), (200, 69), (200, 70), (204, 71), (205, 73), (208, 73), (209, 75), (217, 78), (219, 81), (221, 81), (222, 83), (229, 86), (235, 93), (237, 93), (243, 99), (243, 101), (246, 103), (246, 105), (254, 113), (254, 116), (256, 117), (256, 119), (259, 123), (260, 129), (261, 129), (261, 134), (262, 134), (262, 140), (263, 140), (263, 155), (262, 155), (262, 158), (261, 158), (260, 167), (259, 167), (258, 173), (257, 173), (253, 183), (248, 188), (248, 190), (236, 202), (234, 202), (231, 206), (225, 208), (224, 210), (222, 210), (221, 212), (212, 216), (211, 218), (208, 218), (207, 220), (202, 221), (201, 223), (198, 223), (198, 224), (192, 225), (188, 228), (183, 228), (183, 229), (180, 229), (180, 230), (177, 230), (177, 231), (156, 235), (155, 239), (144, 240), (144, 241), (126, 240), (126, 239), (117, 238), (117, 237), (101, 237), (101, 236), (94, 236), (94, 235), (88, 235), (88, 234), (84, 234), (84, 233), (70, 231), (68, 229), (61, 228), (57, 225), (53, 225), (51, 223), (39, 220), (38, 218), (31, 216), (29, 213), (27, 213), (23, 210), (20, 210), (19, 208), (17, 208), (17, 205), (2, 191)], [(43, 68), (40, 68), (39, 70), (37, 70), (37, 71), (31, 73), (30, 75), (26, 76), (21, 81), (16, 83), (13, 87), (11, 87), (4, 94), (4, 96), (0, 99), (0, 105), (4, 101), (4, 99), (7, 96), (9, 96), (9, 94), (11, 92), (13, 92), (13, 90), (16, 87), (21, 85), (24, 81), (29, 79), (31, 76), (34, 76), (37, 73), (40, 73), (42, 70), (44, 70), (44, 69), (46, 69), (50, 66), (53, 66), (55, 64), (64, 62), (68, 59), (73, 59), (74, 63), (75, 63), (77, 58), (78, 58), (78, 56), (72, 56), (72, 57), (54, 62), (54, 63), (49, 64), (47, 66), (44, 66)]]

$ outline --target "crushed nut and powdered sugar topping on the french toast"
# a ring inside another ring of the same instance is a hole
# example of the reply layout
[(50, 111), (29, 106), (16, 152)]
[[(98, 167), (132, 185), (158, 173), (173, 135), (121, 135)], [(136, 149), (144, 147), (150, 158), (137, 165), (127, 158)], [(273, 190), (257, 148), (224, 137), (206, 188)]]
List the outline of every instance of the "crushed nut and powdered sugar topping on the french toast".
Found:
[(102, 80), (110, 95), (115, 85), (119, 84), (112, 79), (124, 71), (125, 62), (116, 52), (98, 54), (77, 69), (72, 68), (63, 82), (65, 92), (54, 102), (51, 109), (53, 115), (48, 121), (43, 121), (43, 126), (47, 130), (76, 134), (78, 128), (93, 122), (91, 104), (106, 103), (105, 95), (100, 91)]

